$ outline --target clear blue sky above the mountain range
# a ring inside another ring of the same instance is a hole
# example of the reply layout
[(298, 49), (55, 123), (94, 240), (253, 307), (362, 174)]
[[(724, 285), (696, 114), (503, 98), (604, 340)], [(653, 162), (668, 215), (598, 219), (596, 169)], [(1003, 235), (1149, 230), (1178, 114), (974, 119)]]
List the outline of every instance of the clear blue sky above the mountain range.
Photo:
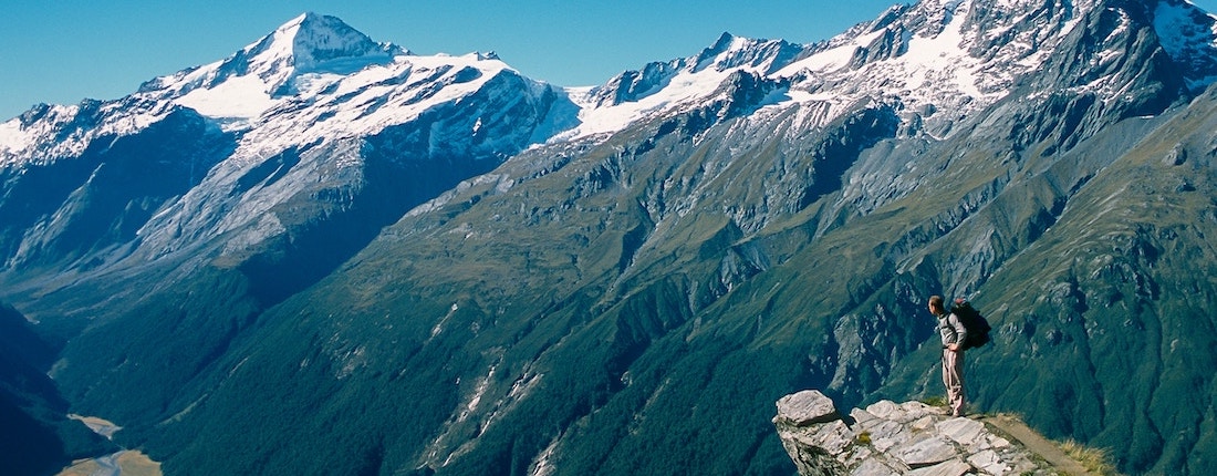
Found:
[[(223, 60), (313, 11), (416, 54), (495, 51), (525, 75), (601, 84), (729, 32), (813, 43), (914, 0), (54, 0), (0, 13), (0, 121), (38, 102), (117, 99)], [(1194, 1), (1210, 11), (1217, 0)]]

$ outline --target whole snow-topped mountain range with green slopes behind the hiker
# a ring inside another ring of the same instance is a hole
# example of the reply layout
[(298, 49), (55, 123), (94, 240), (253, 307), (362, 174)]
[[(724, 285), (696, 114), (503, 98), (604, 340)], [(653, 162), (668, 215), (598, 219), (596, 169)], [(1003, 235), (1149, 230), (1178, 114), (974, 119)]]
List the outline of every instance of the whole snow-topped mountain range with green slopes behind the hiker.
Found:
[(790, 474), (779, 397), (941, 391), (933, 293), (976, 408), (1207, 474), (1213, 24), (926, 0), (557, 88), (304, 15), (0, 124), (0, 301), (170, 474)]

